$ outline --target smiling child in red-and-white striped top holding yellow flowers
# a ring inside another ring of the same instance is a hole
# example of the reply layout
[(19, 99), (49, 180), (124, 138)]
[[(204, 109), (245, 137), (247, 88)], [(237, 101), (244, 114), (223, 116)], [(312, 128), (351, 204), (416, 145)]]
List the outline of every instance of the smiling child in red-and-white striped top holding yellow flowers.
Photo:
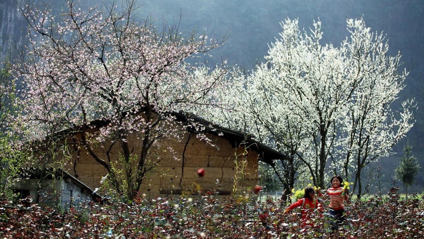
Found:
[(337, 220), (335, 229), (337, 229), (338, 225), (344, 221), (343, 201), (347, 201), (349, 199), (348, 193), (343, 193), (344, 188), (341, 186), (342, 182), (343, 178), (340, 175), (334, 176), (330, 180), (332, 187), (327, 189), (326, 195), (323, 195), (319, 190), (317, 190), (318, 196), (330, 198), (329, 213)]

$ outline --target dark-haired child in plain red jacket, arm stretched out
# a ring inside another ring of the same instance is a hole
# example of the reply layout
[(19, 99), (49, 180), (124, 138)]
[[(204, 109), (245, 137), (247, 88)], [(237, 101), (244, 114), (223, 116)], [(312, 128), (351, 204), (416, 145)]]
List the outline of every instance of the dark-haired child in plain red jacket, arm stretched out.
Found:
[(319, 212), (323, 211), (321, 204), (315, 198), (315, 190), (311, 187), (305, 188), (305, 194), (303, 198), (290, 205), (290, 207), (284, 210), (284, 213), (287, 213), (298, 207), (301, 207), (302, 225), (313, 226), (312, 218), (314, 218), (315, 210), (318, 210)]

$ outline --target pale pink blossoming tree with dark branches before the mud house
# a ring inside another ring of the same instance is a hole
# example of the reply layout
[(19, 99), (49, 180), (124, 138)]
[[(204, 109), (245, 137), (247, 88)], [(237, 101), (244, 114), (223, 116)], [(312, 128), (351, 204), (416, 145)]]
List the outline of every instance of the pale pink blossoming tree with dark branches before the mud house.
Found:
[[(26, 140), (53, 139), (68, 128), (67, 135), (75, 136), (68, 143), (84, 147), (114, 188), (133, 197), (160, 161), (148, 164), (149, 150), (184, 127), (175, 125), (172, 112), (220, 105), (214, 92), (227, 81), (225, 63), (210, 70), (186, 59), (218, 47), (226, 36), (207, 40), (194, 30), (181, 33), (178, 24), (159, 30), (150, 18), (134, 15), (134, 0), (119, 11), (115, 2), (87, 11), (73, 0), (66, 3), (59, 20), (48, 6), (19, 4), (29, 23), (28, 44), (15, 65), (24, 85), (20, 133)], [(97, 133), (90, 130), (93, 120), (101, 125)], [(130, 134), (142, 142), (138, 151)], [(103, 142), (119, 145), (119, 165)]]

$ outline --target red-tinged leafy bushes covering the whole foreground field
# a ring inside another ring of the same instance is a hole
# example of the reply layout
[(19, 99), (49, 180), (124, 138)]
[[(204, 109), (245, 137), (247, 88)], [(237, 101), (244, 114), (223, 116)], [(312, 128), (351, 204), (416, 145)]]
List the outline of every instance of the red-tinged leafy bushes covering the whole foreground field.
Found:
[[(281, 205), (281, 207), (280, 207)], [(324, 205), (328, 205), (324, 202)], [(284, 214), (284, 203), (257, 196), (238, 201), (215, 195), (112, 199), (87, 203), (81, 210), (57, 213), (36, 205), (12, 208), (0, 203), (1, 238), (423, 238), (424, 202), (374, 196), (346, 204), (346, 223), (332, 230), (329, 217), (317, 215), (314, 227), (300, 216)], [(300, 214), (300, 212), (298, 213)]]

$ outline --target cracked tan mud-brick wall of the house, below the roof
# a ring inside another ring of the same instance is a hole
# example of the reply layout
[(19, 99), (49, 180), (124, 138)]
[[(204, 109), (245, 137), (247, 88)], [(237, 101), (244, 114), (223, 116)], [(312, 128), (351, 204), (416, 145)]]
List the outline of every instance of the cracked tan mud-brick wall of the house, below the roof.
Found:
[[(234, 160), (243, 159), (243, 154), (247, 160), (246, 178), (244, 184), (252, 186), (257, 184), (258, 153), (256, 151), (245, 151), (243, 145), (234, 148), (229, 140), (212, 134), (207, 134), (211, 139), (211, 146), (200, 140), (193, 133), (185, 133), (180, 140), (167, 139), (159, 141), (159, 147), (151, 148), (150, 159), (162, 158), (159, 167), (155, 172), (145, 179), (140, 187), (140, 193), (145, 193), (148, 198), (163, 196), (162, 193), (170, 190), (192, 190), (200, 186), (203, 191), (218, 189), (220, 191), (231, 191), (233, 187), (233, 177), (236, 172)], [(135, 137), (128, 137), (131, 148), (137, 152), (141, 141)], [(108, 148), (108, 143), (101, 144), (102, 147), (95, 148), (95, 152), (103, 159), (106, 154), (102, 150)], [(116, 147), (116, 151), (113, 148)], [(119, 157), (119, 145), (112, 147), (111, 160)], [(172, 147), (174, 154), (171, 154), (167, 147)], [(67, 158), (65, 170), (75, 176), (78, 180), (90, 188), (100, 187), (100, 179), (106, 175), (106, 169), (88, 154), (84, 148), (80, 148), (79, 157), (77, 152), (71, 149), (71, 157)], [(177, 158), (177, 160), (175, 159)], [(205, 176), (199, 178), (196, 171), (204, 168)], [(219, 186), (217, 184), (217, 179)], [(196, 186), (199, 185), (199, 186)]]

